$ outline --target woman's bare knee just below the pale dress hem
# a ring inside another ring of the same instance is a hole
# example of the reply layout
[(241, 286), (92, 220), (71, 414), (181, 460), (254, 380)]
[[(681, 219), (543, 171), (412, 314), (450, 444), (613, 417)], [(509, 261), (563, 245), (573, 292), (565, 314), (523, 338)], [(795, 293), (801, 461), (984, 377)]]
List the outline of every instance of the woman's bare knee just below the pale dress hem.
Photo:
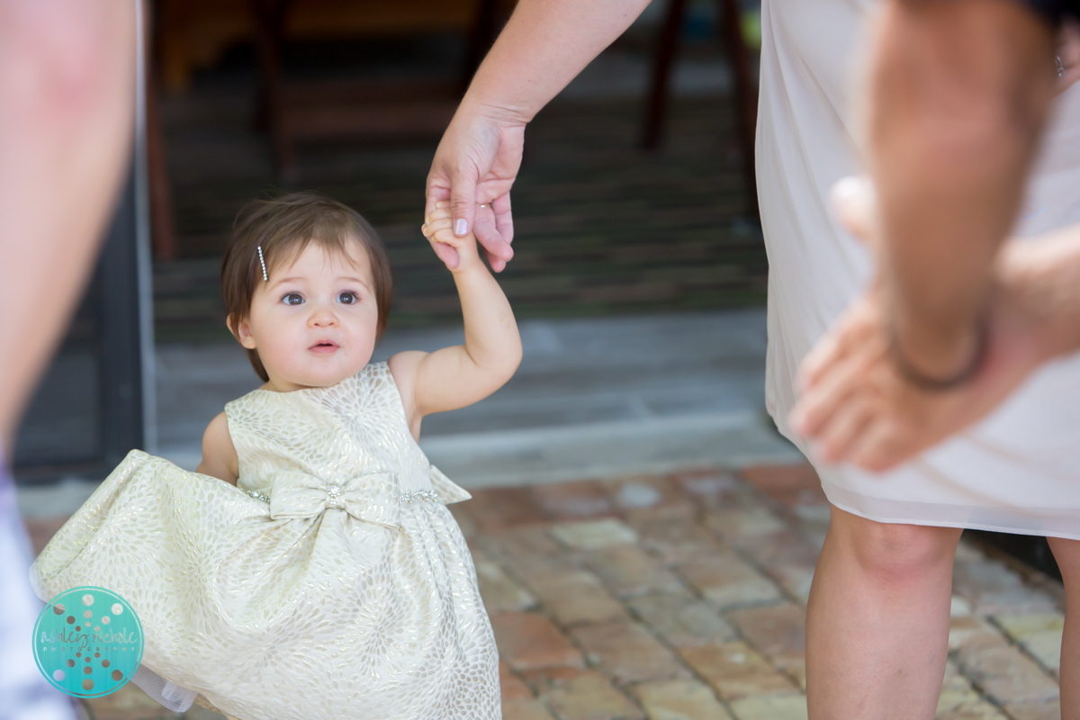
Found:
[(836, 540), (867, 575), (883, 583), (909, 583), (950, 570), (960, 530), (875, 522), (833, 511)]

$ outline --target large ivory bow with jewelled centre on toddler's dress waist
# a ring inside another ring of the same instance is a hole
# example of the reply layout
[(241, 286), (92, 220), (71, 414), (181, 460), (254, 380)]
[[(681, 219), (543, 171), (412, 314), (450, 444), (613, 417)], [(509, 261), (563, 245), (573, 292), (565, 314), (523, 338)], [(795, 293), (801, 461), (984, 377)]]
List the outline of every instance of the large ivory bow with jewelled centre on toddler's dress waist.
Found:
[(270, 519), (308, 518), (337, 508), (396, 530), (400, 497), (396, 473), (365, 473), (342, 483), (308, 473), (280, 473), (270, 489)]

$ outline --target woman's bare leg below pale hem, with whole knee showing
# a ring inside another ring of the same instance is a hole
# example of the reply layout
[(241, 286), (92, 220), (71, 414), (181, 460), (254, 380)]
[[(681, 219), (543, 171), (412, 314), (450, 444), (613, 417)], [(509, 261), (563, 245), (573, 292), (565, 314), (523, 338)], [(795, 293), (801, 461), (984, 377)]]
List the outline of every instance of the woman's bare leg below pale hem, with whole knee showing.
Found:
[(811, 720), (932, 720), (960, 530), (836, 507), (807, 604)]

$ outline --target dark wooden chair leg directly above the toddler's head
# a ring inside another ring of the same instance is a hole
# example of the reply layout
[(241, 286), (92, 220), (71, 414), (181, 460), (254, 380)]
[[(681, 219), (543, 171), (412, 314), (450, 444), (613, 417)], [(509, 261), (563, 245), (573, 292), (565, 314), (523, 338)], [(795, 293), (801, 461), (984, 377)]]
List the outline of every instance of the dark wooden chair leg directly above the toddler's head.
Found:
[(259, 113), (270, 135), (274, 172), (279, 180), (288, 181), (296, 174), (296, 150), (285, 123), (281, 79), (282, 26), (288, 0), (253, 0), (252, 4), (259, 62)]

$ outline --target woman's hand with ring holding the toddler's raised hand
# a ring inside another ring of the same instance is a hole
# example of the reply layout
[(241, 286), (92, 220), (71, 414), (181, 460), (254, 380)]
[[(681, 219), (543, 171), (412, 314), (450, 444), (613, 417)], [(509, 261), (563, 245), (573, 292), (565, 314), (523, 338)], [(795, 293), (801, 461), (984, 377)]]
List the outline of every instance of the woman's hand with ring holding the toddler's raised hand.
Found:
[[(510, 188), (522, 165), (525, 122), (511, 112), (462, 103), (428, 173), (424, 215), (431, 215), (436, 203), (448, 202), (454, 234), (474, 233), (496, 272), (514, 257)], [(454, 247), (446, 243), (434, 247), (446, 267), (457, 268)]]

